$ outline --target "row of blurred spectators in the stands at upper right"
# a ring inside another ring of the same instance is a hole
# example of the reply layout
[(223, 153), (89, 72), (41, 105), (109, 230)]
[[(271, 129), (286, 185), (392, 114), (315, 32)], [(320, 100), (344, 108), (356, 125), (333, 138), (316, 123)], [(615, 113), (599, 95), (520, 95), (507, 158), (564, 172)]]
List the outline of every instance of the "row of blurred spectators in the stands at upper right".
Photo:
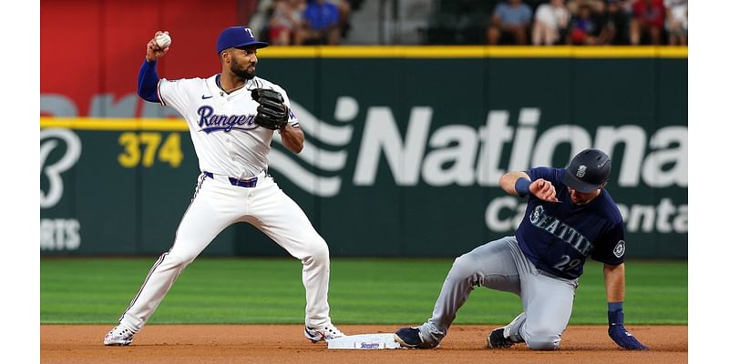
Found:
[[(535, 2), (531, 2), (535, 3)], [(532, 4), (534, 5), (534, 4)], [(496, 5), (489, 45), (687, 45), (688, 0), (522, 0)]]

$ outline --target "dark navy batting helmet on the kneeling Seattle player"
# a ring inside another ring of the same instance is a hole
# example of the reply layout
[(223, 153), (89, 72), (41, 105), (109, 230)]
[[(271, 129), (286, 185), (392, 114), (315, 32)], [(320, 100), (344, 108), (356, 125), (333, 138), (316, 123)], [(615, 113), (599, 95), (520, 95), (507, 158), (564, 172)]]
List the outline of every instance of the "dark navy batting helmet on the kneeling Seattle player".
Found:
[(562, 183), (581, 193), (590, 193), (600, 187), (610, 176), (610, 157), (599, 149), (585, 149), (570, 161)]

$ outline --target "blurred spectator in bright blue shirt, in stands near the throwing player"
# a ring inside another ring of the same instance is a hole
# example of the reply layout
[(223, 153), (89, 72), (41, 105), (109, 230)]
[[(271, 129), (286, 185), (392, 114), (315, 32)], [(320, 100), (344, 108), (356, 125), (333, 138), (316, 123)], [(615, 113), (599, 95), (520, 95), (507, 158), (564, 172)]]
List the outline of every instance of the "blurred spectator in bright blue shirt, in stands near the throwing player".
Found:
[(327, 0), (310, 0), (303, 11), (302, 27), (296, 32), (297, 45), (339, 44), (339, 8)]

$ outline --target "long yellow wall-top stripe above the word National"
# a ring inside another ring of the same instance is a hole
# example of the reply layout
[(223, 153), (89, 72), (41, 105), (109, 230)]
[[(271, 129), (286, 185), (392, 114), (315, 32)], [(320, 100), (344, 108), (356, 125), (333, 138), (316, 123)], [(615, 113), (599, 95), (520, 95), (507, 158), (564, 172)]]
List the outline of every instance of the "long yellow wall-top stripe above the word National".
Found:
[(275, 46), (262, 58), (688, 58), (687, 46), (319, 45)]

